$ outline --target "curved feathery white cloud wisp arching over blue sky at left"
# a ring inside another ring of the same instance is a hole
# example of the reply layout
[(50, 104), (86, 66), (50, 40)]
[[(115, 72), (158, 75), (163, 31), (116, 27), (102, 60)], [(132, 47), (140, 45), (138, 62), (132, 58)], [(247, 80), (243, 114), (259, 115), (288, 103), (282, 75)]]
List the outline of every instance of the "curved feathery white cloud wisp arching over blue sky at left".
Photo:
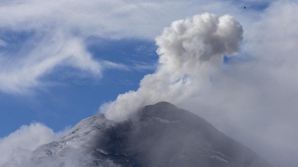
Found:
[(33, 48), (19, 52), (13, 59), (9, 54), (2, 55), (1, 91), (25, 93), (31, 88), (42, 86), (40, 78), (59, 65), (72, 66), (90, 71), (97, 77), (101, 76), (102, 65), (94, 61), (92, 55), (85, 50), (81, 39), (63, 37), (62, 33), (56, 33), (37, 42)]

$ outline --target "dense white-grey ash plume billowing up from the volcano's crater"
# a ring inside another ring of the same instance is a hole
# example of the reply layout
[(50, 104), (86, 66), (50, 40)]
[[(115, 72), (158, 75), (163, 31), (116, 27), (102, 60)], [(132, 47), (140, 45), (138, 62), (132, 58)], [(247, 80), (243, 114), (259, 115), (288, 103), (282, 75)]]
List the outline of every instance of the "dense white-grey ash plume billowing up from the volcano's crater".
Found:
[(100, 107), (109, 120), (120, 122), (140, 107), (158, 101), (176, 103), (200, 89), (209, 72), (231, 56), (242, 42), (242, 26), (230, 15), (211, 13), (174, 21), (156, 37), (158, 67), (146, 75), (137, 91), (120, 94)]

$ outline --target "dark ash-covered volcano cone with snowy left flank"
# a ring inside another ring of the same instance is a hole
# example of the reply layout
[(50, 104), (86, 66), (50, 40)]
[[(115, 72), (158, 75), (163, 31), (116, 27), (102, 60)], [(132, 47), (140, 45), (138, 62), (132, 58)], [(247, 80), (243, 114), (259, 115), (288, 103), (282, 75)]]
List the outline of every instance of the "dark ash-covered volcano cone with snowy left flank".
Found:
[(33, 151), (34, 166), (271, 167), (197, 115), (159, 102), (129, 121), (86, 118), (59, 141)]

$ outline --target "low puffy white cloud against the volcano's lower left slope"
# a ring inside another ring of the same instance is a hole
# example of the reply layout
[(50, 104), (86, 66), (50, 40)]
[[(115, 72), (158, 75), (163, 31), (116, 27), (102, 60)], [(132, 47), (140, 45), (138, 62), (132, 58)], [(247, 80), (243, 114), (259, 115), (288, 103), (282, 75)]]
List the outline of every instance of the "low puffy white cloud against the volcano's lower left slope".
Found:
[(29, 162), (32, 150), (39, 145), (58, 140), (68, 129), (55, 133), (41, 123), (22, 125), (15, 132), (0, 138), (0, 166), (5, 163), (10, 166), (27, 166), (24, 163)]

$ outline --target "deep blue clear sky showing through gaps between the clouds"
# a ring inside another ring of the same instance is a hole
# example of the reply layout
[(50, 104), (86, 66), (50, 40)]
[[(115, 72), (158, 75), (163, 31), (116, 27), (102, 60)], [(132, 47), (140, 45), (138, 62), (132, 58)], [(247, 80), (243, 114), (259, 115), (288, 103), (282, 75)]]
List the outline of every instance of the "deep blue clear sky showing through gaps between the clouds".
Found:
[[(231, 3), (241, 12), (262, 11), (268, 6), (267, 1)], [(244, 6), (246, 9), (241, 9)], [(181, 16), (187, 13), (183, 12)], [(173, 20), (168, 19), (164, 24), (170, 21)], [(18, 56), (24, 56), (22, 53), (26, 52), (27, 47), (29, 49), (34, 47), (36, 38), (43, 35), (36, 37), (38, 30), (31, 28), (14, 29), (5, 26), (1, 28), (0, 37), (6, 45), (0, 47), (0, 51), (8, 57), (17, 59)], [(119, 31), (114, 33), (121, 33), (121, 29)], [(158, 25), (153, 34), (158, 35), (158, 31), (162, 31), (162, 26)], [(0, 92), (0, 125), (6, 127), (1, 129), (0, 137), (32, 121), (42, 122), (54, 131), (61, 130), (97, 113), (102, 103), (114, 100), (119, 93), (138, 89), (140, 79), (146, 74), (153, 73), (157, 64), (158, 55), (155, 52), (157, 46), (154, 37), (151, 35), (148, 39), (133, 35), (133, 37), (120, 37), (121, 39), (96, 36), (85, 38), (85, 46), (95, 60), (107, 60), (133, 67), (129, 70), (105, 69), (101, 78), (93, 78), (84, 77), (88, 75), (85, 73), (75, 75), (77, 72), (75, 68), (56, 66), (50, 73), (41, 77), (42, 81), (50, 82), (50, 86), (46, 86), (45, 89), (32, 88), (29, 94)]]

